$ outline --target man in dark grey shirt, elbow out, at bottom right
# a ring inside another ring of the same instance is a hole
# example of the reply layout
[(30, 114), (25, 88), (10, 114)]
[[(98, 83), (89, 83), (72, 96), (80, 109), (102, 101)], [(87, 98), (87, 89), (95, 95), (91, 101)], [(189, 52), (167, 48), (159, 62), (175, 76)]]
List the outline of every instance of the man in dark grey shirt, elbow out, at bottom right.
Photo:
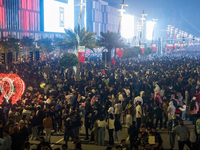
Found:
[(190, 130), (189, 128), (184, 125), (183, 120), (179, 120), (179, 124), (175, 127), (172, 131), (178, 135), (178, 147), (179, 150), (183, 150), (184, 145), (186, 144), (191, 149), (191, 142), (190, 142)]

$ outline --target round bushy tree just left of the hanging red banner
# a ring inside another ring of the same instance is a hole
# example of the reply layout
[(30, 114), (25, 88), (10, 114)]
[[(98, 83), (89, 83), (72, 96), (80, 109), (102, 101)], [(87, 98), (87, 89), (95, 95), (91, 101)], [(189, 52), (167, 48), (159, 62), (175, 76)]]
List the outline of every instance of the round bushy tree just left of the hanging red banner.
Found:
[(68, 68), (68, 78), (69, 78), (69, 68), (76, 66), (78, 62), (79, 62), (78, 57), (73, 53), (65, 53), (59, 59), (60, 66), (64, 67), (65, 69)]

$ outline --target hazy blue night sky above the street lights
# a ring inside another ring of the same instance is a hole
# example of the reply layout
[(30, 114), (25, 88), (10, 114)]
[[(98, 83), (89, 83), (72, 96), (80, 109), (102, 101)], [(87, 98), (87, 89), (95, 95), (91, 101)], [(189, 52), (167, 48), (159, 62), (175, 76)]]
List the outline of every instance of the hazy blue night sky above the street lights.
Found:
[[(122, 0), (104, 0), (120, 8)], [(173, 25), (189, 34), (200, 37), (200, 0), (125, 0), (126, 13), (140, 17), (145, 11), (147, 20), (158, 19), (157, 34), (161, 36), (167, 25)], [(159, 31), (159, 34), (158, 34)]]

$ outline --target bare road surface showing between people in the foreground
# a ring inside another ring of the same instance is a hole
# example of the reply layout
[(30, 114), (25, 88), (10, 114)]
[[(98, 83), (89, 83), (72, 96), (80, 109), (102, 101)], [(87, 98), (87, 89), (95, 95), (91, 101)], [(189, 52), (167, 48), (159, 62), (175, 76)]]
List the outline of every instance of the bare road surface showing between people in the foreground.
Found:
[[(190, 134), (191, 134), (191, 141), (195, 141), (196, 136), (194, 133), (194, 126), (192, 125), (191, 121), (185, 121), (185, 124), (189, 127), (190, 129)], [(159, 125), (158, 125), (159, 126)], [(165, 150), (170, 149), (170, 142), (169, 142), (169, 136), (167, 133), (166, 129), (161, 129), (158, 130), (158, 132), (161, 134), (161, 137), (163, 139), (163, 147)], [(61, 132), (60, 134), (53, 134), (51, 136), (51, 147), (52, 149), (56, 149), (56, 148), (60, 148), (62, 149), (62, 145), (65, 144), (65, 141), (63, 141), (63, 132)], [(119, 138), (120, 141), (122, 139), (128, 139), (128, 133), (127, 133), (127, 129), (123, 126), (122, 131), (119, 131)], [(105, 145), (106, 146), (99, 146), (99, 145), (94, 145), (94, 143), (90, 143), (89, 141), (85, 141), (85, 127), (82, 126), (80, 129), (80, 139), (81, 139), (81, 143), (82, 143), (82, 149), (83, 150), (106, 150), (106, 147), (108, 146), (108, 131), (106, 130), (106, 134), (105, 134)], [(35, 147), (37, 144), (39, 144), (38, 140), (30, 140), (30, 143), (32, 145), (32, 147)], [(127, 144), (129, 144), (129, 140), (127, 140)], [(119, 145), (119, 144), (114, 144), (113, 150), (115, 150), (115, 147)], [(68, 142), (68, 148), (69, 150), (74, 150), (75, 149), (75, 145), (72, 143), (72, 141)], [(175, 149), (174, 150), (178, 150), (178, 142), (177, 142), (177, 136), (176, 136), (176, 142), (175, 142)], [(184, 150), (187, 150), (186, 146), (184, 148)]]

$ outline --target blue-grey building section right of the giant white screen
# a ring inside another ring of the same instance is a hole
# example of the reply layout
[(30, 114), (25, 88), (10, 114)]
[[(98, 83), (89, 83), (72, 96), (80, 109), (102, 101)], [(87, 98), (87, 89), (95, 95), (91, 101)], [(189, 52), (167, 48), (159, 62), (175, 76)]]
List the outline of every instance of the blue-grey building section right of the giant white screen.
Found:
[(118, 32), (120, 13), (102, 0), (87, 1), (87, 27), (100, 36), (100, 32)]

